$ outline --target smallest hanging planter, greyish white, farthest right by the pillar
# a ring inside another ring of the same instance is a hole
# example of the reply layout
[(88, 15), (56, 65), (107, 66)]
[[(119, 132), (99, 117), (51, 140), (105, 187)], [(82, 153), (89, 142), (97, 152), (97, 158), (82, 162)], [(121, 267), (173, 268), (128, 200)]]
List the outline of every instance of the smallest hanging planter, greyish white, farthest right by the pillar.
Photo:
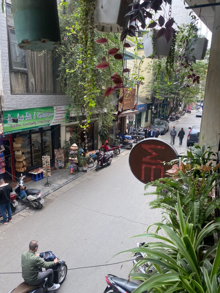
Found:
[(194, 38), (189, 43), (189, 53), (187, 54), (188, 59), (203, 60), (208, 47), (207, 38)]

